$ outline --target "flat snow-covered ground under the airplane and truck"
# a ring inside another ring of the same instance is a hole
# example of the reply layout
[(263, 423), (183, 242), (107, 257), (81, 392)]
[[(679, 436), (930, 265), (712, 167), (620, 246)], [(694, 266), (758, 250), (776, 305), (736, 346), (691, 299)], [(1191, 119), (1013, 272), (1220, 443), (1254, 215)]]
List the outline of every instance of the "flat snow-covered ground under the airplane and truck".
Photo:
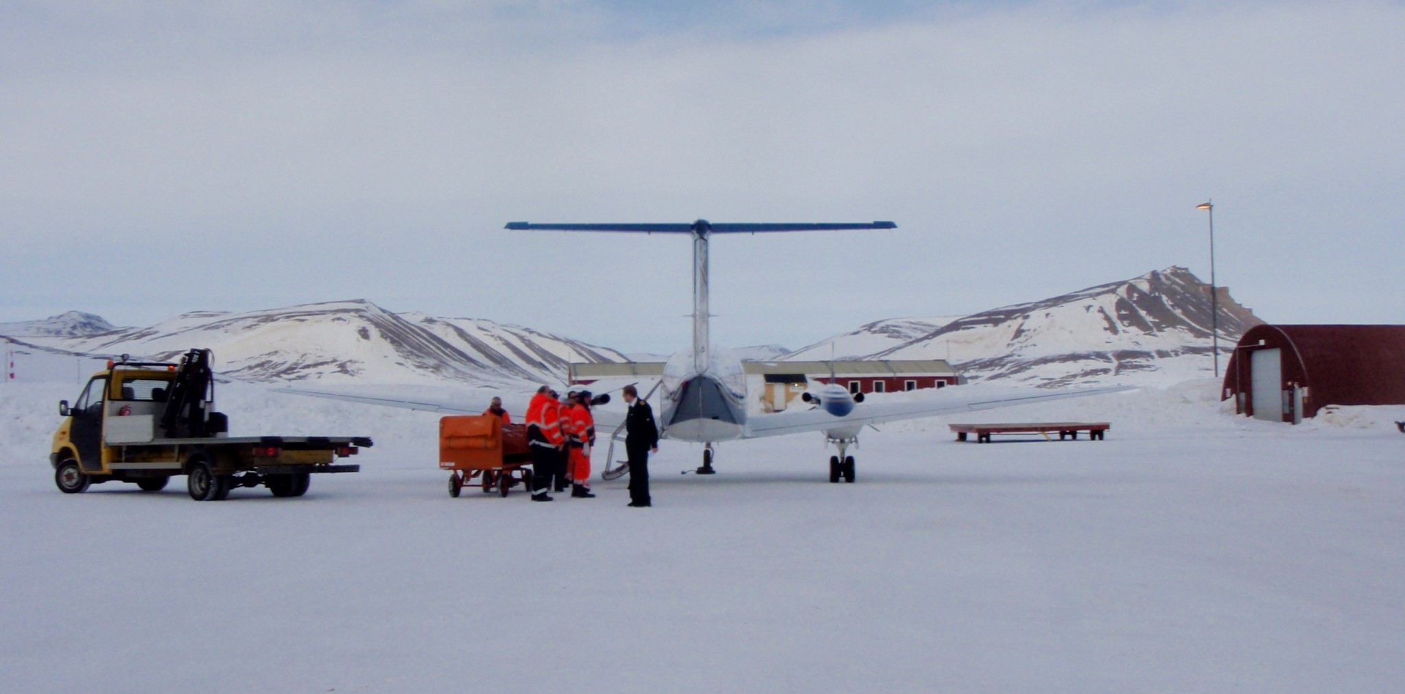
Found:
[[(371, 434), (302, 499), (60, 495), (0, 386), (6, 691), (1398, 691), (1402, 407), (1300, 427), (1214, 382), (819, 437), (663, 443), (655, 507), (450, 499), (433, 414), (221, 388), (233, 433)], [(947, 421), (1106, 419), (958, 444)], [(597, 457), (597, 468), (600, 457)]]

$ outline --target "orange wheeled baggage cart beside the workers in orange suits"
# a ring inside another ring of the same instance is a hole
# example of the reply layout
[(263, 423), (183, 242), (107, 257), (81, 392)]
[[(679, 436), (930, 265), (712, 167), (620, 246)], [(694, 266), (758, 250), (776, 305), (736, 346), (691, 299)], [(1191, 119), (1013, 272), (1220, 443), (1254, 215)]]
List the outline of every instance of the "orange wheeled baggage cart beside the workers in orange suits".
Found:
[(503, 424), (492, 414), (440, 419), (440, 469), (450, 471), (448, 496), (457, 497), (469, 485), (502, 496), (517, 485), (531, 489), (531, 471), (524, 466), (530, 462), (525, 424)]

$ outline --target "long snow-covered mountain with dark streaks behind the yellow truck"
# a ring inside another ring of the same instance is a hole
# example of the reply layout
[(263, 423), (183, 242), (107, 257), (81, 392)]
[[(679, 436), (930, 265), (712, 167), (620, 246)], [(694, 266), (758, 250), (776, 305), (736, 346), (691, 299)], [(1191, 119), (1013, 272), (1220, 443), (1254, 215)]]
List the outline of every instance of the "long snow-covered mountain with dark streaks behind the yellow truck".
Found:
[(614, 350), (527, 327), (391, 313), (367, 301), (242, 313), (194, 312), (150, 327), (27, 341), (77, 354), (132, 354), (157, 361), (191, 347), (211, 347), (218, 371), (246, 381), (355, 378), (495, 385), (559, 381), (569, 361), (624, 360)]

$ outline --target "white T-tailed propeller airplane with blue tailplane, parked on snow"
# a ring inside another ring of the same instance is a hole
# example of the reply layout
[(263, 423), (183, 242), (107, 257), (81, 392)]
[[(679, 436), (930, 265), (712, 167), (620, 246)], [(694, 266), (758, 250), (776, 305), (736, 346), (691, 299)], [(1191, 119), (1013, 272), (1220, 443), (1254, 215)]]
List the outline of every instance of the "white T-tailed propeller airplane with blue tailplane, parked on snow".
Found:
[[(849, 448), (858, 443), (864, 427), (887, 421), (932, 417), (958, 412), (975, 412), (1031, 402), (1080, 398), (1087, 395), (1127, 391), (1125, 386), (1083, 388), (1065, 391), (1034, 389), (992, 389), (964, 385), (944, 388), (930, 398), (903, 402), (864, 403), (863, 393), (850, 393), (830, 379), (818, 392), (806, 392), (802, 400), (811, 403), (808, 410), (787, 410), (778, 413), (749, 413), (746, 407), (746, 375), (742, 362), (726, 350), (717, 348), (710, 340), (708, 305), (708, 243), (712, 235), (774, 233), (774, 232), (818, 232), (896, 229), (894, 222), (843, 222), (843, 223), (711, 223), (698, 219), (693, 223), (531, 223), (509, 222), (509, 230), (552, 230), (552, 232), (618, 232), (618, 233), (672, 233), (688, 235), (693, 239), (693, 344), (673, 354), (663, 367), (663, 378), (655, 385), (662, 389), (662, 412), (659, 437), (676, 441), (702, 444), (702, 465), (698, 475), (715, 473), (714, 444), (745, 438), (759, 438), (801, 433), (821, 433), (826, 447), (835, 445), (839, 455), (829, 458), (829, 480), (853, 482), (856, 461)], [(347, 391), (285, 389), (296, 395), (333, 398), (340, 400), (407, 407), (437, 412), (443, 414), (478, 414), (486, 402), (473, 402), (459, 395), (430, 393), (360, 393)], [(648, 396), (646, 396), (648, 398)], [(611, 441), (620, 436), (624, 413), (597, 409), (594, 412), (597, 430), (614, 430)], [(606, 461), (606, 479), (614, 479), (627, 472), (625, 468), (610, 469)]]

